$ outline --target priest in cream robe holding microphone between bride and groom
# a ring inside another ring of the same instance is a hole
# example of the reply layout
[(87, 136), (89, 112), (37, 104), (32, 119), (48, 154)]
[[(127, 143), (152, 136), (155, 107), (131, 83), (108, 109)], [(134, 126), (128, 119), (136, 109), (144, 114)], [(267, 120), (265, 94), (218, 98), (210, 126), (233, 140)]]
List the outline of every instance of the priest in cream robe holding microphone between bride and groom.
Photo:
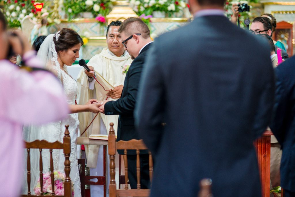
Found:
[[(77, 103), (85, 103), (89, 98), (97, 98), (97, 100), (117, 100), (121, 97), (123, 83), (132, 60), (129, 53), (124, 50), (121, 35), (118, 29), (121, 25), (120, 21), (113, 21), (109, 24), (106, 31), (107, 48), (104, 48), (100, 54), (92, 57), (87, 65), (91, 71), (82, 69), (78, 75), (78, 95)], [(96, 78), (96, 79), (95, 79)], [(96, 81), (97, 80), (97, 81)], [(83, 133), (87, 126), (94, 119), (96, 114), (79, 113), (80, 132)], [(117, 123), (119, 115), (105, 116), (99, 113), (90, 124), (84, 137), (91, 134), (107, 134), (109, 131), (109, 123), (114, 123), (115, 132), (117, 132)], [(99, 149), (97, 145), (85, 146), (87, 157), (87, 167), (90, 167), (90, 175), (102, 175), (103, 165), (97, 161), (103, 161), (103, 149)], [(100, 174), (101, 173), (101, 174)], [(99, 187), (99, 186), (98, 186)], [(103, 195), (97, 186), (91, 186), (91, 194), (97, 196)]]

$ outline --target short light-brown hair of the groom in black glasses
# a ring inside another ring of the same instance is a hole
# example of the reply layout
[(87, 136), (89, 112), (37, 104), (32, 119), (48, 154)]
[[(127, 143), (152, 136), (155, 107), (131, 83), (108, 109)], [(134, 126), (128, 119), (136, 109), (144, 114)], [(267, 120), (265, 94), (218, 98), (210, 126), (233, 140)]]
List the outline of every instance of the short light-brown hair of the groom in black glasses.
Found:
[(118, 30), (118, 32), (131, 36), (136, 33), (141, 33), (142, 38), (150, 37), (150, 29), (145, 22), (139, 17), (130, 17), (124, 20)]

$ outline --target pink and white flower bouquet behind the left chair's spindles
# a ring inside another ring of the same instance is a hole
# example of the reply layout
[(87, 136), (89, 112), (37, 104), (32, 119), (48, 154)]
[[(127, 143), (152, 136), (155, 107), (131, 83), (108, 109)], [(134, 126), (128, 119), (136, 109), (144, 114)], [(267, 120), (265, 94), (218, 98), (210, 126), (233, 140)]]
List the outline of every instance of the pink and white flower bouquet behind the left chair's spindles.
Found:
[[(54, 193), (55, 195), (64, 195), (63, 181), (65, 180), (65, 173), (54, 171)], [(74, 196), (74, 185), (72, 182), (72, 196)], [(37, 181), (37, 184), (34, 188), (34, 192), (36, 195), (41, 194), (41, 185), (40, 178)], [(43, 192), (44, 195), (50, 195), (52, 192), (51, 178), (50, 172), (43, 174)]]

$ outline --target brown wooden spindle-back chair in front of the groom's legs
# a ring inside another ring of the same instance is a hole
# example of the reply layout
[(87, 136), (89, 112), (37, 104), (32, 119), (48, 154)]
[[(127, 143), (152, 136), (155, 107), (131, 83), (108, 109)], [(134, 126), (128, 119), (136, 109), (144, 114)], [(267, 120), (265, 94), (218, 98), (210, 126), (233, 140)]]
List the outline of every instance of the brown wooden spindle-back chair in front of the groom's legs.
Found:
[[(117, 196), (142, 196), (148, 197), (150, 195), (150, 189), (140, 189), (140, 150), (148, 149), (142, 140), (132, 139), (129, 141), (118, 141), (115, 139), (114, 123), (110, 123), (109, 130), (109, 157), (110, 157), (110, 185), (109, 185), (109, 197)], [(115, 180), (115, 154), (117, 149), (124, 150), (124, 164), (125, 164), (125, 188), (117, 190), (117, 184)], [(137, 171), (137, 189), (128, 189), (128, 165), (127, 165), (127, 150), (136, 150), (136, 171)], [(150, 180), (153, 178), (153, 159), (152, 154), (149, 151), (149, 172)]]

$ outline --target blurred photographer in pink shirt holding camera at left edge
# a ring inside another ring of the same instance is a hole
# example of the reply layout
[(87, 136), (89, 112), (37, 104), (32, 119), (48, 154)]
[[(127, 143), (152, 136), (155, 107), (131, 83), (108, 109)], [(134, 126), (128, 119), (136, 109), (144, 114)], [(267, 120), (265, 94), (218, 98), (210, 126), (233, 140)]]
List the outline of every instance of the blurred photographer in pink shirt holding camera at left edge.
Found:
[[(0, 196), (19, 196), (23, 170), (22, 125), (56, 121), (68, 114), (63, 89), (55, 76), (42, 69), (35, 51), (20, 32), (7, 32), (0, 12)], [(17, 53), (28, 72), (8, 61)], [(11, 169), (11, 170), (7, 170)]]

